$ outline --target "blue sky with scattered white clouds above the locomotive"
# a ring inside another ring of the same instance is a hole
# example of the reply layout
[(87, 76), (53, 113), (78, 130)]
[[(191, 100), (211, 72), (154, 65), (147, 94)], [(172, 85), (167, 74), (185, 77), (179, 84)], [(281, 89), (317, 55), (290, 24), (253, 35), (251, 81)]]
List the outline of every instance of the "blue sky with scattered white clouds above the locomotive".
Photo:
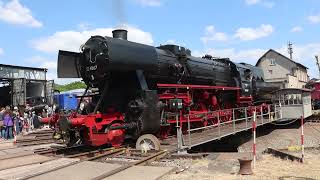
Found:
[(268, 49), (289, 56), (290, 41), (293, 59), (319, 77), (320, 0), (0, 0), (0, 63), (48, 68), (67, 83), (56, 75), (58, 50), (78, 52), (118, 27), (131, 41), (253, 65)]

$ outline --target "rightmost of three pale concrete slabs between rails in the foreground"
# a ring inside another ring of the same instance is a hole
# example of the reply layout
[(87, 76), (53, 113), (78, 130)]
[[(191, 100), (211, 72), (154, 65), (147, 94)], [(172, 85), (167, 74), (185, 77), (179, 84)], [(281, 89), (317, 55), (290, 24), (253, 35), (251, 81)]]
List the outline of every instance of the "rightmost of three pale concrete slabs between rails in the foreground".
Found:
[(156, 180), (173, 171), (175, 167), (133, 166), (105, 180)]

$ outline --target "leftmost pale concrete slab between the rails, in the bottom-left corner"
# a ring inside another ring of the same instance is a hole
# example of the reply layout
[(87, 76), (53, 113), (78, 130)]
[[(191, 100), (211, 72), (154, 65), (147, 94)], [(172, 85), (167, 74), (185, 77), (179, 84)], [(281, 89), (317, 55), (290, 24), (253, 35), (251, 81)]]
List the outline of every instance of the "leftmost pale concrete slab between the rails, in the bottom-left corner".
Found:
[(0, 171), (0, 179), (23, 179), (30, 175), (34, 175), (41, 172), (46, 172), (50, 169), (54, 169), (56, 167), (61, 167), (75, 161), (79, 161), (78, 159), (71, 158), (60, 158), (52, 161), (48, 161), (42, 164), (33, 164), (27, 166), (21, 166), (16, 168), (11, 168), (7, 170)]

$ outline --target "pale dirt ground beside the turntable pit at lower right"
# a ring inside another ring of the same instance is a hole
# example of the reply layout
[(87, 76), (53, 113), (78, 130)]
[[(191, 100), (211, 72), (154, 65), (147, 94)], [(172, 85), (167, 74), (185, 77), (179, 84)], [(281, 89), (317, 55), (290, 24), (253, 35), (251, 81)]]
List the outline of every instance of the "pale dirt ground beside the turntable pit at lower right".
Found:
[[(319, 147), (320, 124), (305, 125), (305, 141), (306, 147)], [(300, 128), (277, 129), (270, 134), (257, 138), (259, 154), (256, 167), (253, 169), (253, 175), (238, 175), (238, 158), (243, 157), (243, 153), (245, 152), (247, 152), (246, 157), (250, 157), (251, 153), (248, 152), (252, 148), (251, 140), (241, 145), (238, 148), (238, 153), (212, 153), (206, 158), (198, 160), (173, 160), (169, 164), (178, 164), (176, 166), (177, 171), (162, 177), (161, 180), (320, 180), (320, 150), (306, 150), (305, 162), (303, 164), (261, 153), (267, 147), (282, 149), (298, 146), (299, 144)], [(301, 157), (300, 151), (290, 153)]]

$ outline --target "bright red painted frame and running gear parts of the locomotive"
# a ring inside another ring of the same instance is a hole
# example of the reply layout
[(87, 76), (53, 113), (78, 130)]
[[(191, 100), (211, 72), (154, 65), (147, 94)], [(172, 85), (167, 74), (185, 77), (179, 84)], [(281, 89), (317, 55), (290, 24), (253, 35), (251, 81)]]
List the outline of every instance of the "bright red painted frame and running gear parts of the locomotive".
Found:
[[(218, 117), (220, 122), (231, 122), (232, 121), (232, 108), (236, 107), (248, 107), (247, 115), (251, 116), (253, 111), (258, 112), (261, 109), (266, 110), (265, 104), (260, 105), (259, 108), (252, 106), (253, 98), (241, 97), (239, 87), (226, 87), (226, 86), (207, 86), (207, 85), (186, 85), (186, 84), (157, 84), (158, 90), (162, 93), (158, 94), (159, 101), (167, 104), (169, 100), (180, 99), (182, 100), (182, 108), (178, 111), (179, 113), (179, 125), (182, 127), (182, 131), (186, 133), (187, 123), (190, 122), (192, 127), (203, 127), (207, 125), (213, 125), (218, 123)], [(194, 92), (197, 92), (197, 96), (194, 97)], [(217, 100), (218, 94), (224, 94), (229, 92), (233, 94), (235, 104), (225, 102), (224, 107), (219, 104)], [(200, 95), (199, 95), (200, 94)], [(192, 107), (194, 98), (197, 98), (197, 108)], [(209, 109), (209, 107), (211, 109)], [(215, 111), (220, 110), (220, 111)], [(166, 111), (166, 110), (164, 110)], [(208, 113), (212, 112), (212, 113)], [(170, 110), (165, 113), (170, 114)], [(166, 118), (161, 117), (161, 126), (156, 136), (160, 139), (165, 139), (169, 135), (174, 134), (174, 128), (176, 126), (176, 115), (172, 113), (172, 116)], [(203, 116), (203, 114), (206, 114)], [(50, 124), (58, 124), (57, 115), (48, 119), (43, 119), (43, 122), (50, 122)], [(92, 146), (100, 146), (104, 144), (111, 144), (112, 146), (120, 146), (123, 144), (125, 139), (125, 129), (115, 128), (108, 131), (104, 131), (105, 126), (117, 127), (125, 123), (125, 115), (121, 112), (109, 112), (102, 114), (79, 115), (72, 114), (68, 117), (69, 125), (72, 128), (82, 129), (83, 140), (85, 144)]]

